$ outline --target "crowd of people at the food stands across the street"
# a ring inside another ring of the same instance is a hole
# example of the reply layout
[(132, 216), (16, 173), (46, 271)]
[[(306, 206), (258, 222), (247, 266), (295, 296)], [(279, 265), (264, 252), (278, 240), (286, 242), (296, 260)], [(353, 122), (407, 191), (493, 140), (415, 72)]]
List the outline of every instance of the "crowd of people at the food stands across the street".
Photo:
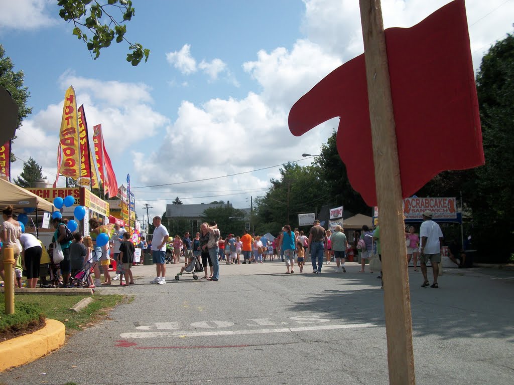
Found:
[[(325, 230), (318, 220), (314, 221), (308, 235), (298, 228), (292, 230), (287, 224), (273, 239), (268, 239), (265, 235), (250, 234), (247, 230), (244, 230), (241, 236), (228, 234), (222, 237), (216, 222), (213, 221), (202, 223), (199, 232), (191, 239), (189, 232), (182, 237), (179, 235), (170, 237), (168, 229), (161, 223), (161, 218), (154, 217), (155, 229), (152, 240), (146, 243), (141, 237), (134, 245), (131, 234), (125, 232), (119, 223), (101, 225), (98, 220), (90, 219), (91, 230), (88, 235), (83, 236), (78, 232), (70, 234), (67, 220), (55, 218), (52, 220), (55, 229), (52, 243), (46, 249), (33, 234), (22, 232), (20, 223), (14, 218), (12, 206), (7, 206), (3, 210), (3, 219), (0, 229), (0, 240), (3, 242), (0, 250), (0, 275), (4, 280), (4, 249), (13, 247), (16, 260), (15, 284), (18, 287), (22, 287), (23, 270), (26, 271), (28, 287), (36, 287), (40, 276), (43, 285), (70, 287), (75, 282), (74, 278), (77, 278), (80, 273), (86, 275), (84, 279), (89, 287), (112, 285), (116, 280), (119, 280), (121, 286), (133, 285), (135, 282), (131, 268), (135, 263), (135, 247), (148, 249), (151, 252), (152, 262), (156, 265), (156, 276), (150, 283), (156, 284), (166, 283), (166, 264), (180, 263), (181, 258), (184, 265), (178, 276), (183, 274), (190, 263), (198, 259), (199, 262), (201, 261), (204, 272), (201, 279), (218, 281), (220, 263), (256, 264), (277, 259), (285, 263), (285, 274), (293, 274), (295, 265), (297, 271), (303, 273), (305, 262), (310, 257), (313, 274), (320, 274), (324, 261), (331, 264), (333, 259), (337, 264), (336, 272), (346, 273), (347, 253), (353, 253), (355, 250), (359, 253), (361, 260), (359, 272), (364, 273), (366, 261), (374, 255), (378, 255), (380, 260), (382, 257), (379, 225), (373, 230), (364, 225), (362, 232), (357, 234), (356, 244), (348, 243), (341, 226), (336, 226), (332, 232)], [(443, 235), (437, 223), (432, 221), (432, 213), (426, 211), (423, 219), (419, 236), (415, 233), (414, 226), (406, 229), (407, 261), (410, 262), (413, 259), (414, 271), (418, 271), (417, 259), (419, 258), (424, 277), (422, 287), (430, 285), (427, 277), (427, 262), (430, 261), (433, 269), (433, 283), (430, 286), (437, 288)], [(101, 234), (106, 234), (109, 242), (97, 244), (97, 238), (100, 238)], [(54, 245), (58, 245), (62, 251), (61, 261), (54, 261)], [(458, 263), (455, 258), (451, 259)], [(116, 273), (113, 276), (109, 273), (109, 265), (116, 265)], [(370, 272), (373, 273), (371, 268)], [(101, 282), (102, 273), (103, 283)], [(47, 280), (48, 275), (49, 280)], [(382, 272), (378, 278), (382, 278), (383, 286)]]

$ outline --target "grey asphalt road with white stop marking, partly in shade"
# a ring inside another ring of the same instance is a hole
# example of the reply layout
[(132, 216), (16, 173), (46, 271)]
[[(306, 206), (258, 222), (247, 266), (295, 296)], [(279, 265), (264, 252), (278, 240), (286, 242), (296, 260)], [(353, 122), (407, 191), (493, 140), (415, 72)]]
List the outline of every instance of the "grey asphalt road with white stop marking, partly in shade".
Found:
[[(208, 282), (168, 265), (156, 285), (136, 266), (136, 285), (99, 290), (132, 302), (0, 384), (387, 384), (383, 292), (359, 268), (222, 264)], [(514, 272), (445, 269), (438, 289), (409, 277), (416, 383), (514, 383)]]

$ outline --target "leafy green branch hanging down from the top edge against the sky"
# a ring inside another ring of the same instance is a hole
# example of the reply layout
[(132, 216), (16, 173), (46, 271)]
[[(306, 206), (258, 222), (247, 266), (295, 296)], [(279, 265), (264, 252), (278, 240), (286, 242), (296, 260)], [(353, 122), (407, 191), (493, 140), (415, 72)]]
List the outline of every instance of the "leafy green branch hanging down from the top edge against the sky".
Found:
[[(126, 25), (121, 24), (131, 21), (136, 13), (131, 0), (107, 0), (106, 4), (96, 0), (59, 0), (58, 6), (61, 8), (59, 16), (74, 24), (73, 34), (87, 45), (91, 57), (95, 54), (95, 60), (100, 56), (100, 50), (110, 46), (116, 38), (116, 43), (128, 43), (127, 62), (137, 66), (143, 57), (145, 62), (148, 61), (150, 50), (139, 43), (129, 42), (125, 38)], [(118, 15), (113, 16), (109, 13), (111, 11)], [(93, 35), (87, 37), (81, 27)]]

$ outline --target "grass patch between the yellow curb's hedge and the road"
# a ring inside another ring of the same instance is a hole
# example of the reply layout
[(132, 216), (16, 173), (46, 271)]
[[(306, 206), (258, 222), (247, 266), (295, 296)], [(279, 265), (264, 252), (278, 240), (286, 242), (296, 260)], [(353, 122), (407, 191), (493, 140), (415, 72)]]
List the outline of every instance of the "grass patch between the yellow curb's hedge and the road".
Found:
[[(100, 295), (94, 294), (93, 302), (80, 312), (69, 310), (81, 299), (89, 295), (51, 295), (51, 294), (23, 294), (14, 298), (15, 309), (25, 304), (37, 304), (41, 308), (46, 318), (56, 319), (66, 325), (66, 334), (73, 334), (77, 330), (82, 330), (93, 325), (108, 316), (109, 310), (113, 309), (118, 303), (128, 302), (132, 297), (122, 295)], [(4, 303), (4, 293), (0, 293), (0, 301)]]

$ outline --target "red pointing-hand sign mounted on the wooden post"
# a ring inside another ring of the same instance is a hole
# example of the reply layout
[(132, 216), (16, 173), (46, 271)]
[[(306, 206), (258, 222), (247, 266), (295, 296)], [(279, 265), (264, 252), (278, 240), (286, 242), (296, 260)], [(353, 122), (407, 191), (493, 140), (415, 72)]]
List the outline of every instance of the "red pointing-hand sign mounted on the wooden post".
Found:
[[(385, 31), (402, 197), (439, 172), (485, 163), (464, 0), (411, 28)], [(348, 179), (377, 204), (364, 54), (329, 73), (289, 112), (300, 136), (341, 117), (337, 148)]]

